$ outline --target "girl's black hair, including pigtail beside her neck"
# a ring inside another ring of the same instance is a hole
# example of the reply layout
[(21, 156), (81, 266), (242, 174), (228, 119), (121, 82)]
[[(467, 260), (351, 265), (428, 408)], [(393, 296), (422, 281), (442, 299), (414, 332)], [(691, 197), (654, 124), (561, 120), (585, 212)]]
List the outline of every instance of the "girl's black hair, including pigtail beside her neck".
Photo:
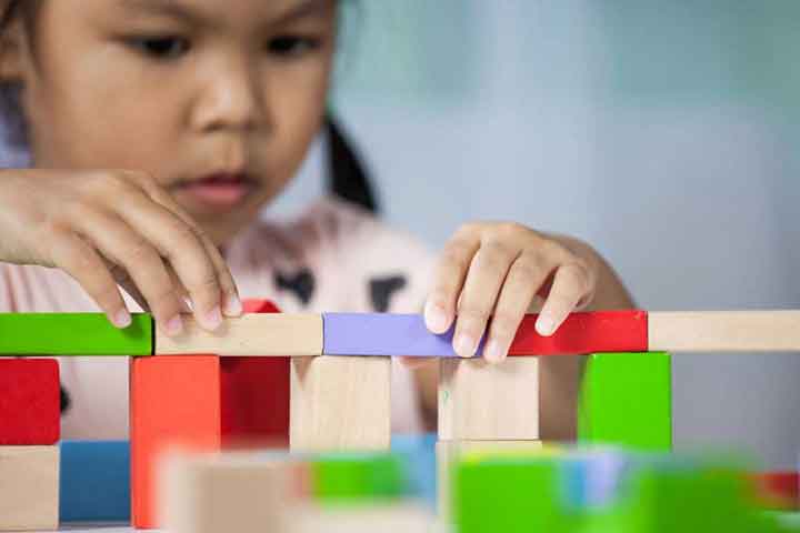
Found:
[[(31, 23), (39, 3), (40, 0), (7, 0), (0, 13), (0, 31), (8, 28), (17, 16), (23, 16), (26, 23)], [(6, 141), (11, 147), (24, 145), (27, 132), (20, 110), (19, 87), (0, 84), (0, 117), (6, 123)], [(330, 192), (367, 211), (378, 213), (378, 200), (368, 171), (332, 113), (326, 117), (324, 125), (328, 135)]]

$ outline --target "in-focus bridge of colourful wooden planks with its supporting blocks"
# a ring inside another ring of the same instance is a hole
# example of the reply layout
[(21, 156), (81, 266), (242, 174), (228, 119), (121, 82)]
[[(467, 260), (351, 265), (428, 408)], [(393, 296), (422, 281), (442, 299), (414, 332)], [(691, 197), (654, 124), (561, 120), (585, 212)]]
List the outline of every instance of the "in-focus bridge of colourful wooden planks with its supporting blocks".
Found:
[[(134, 315), (133, 325), (121, 331), (101, 314), (0, 314), (0, 355), (137, 355), (131, 512), (134, 525), (151, 527), (158, 523), (154, 467), (172, 445), (218, 452), (271, 441), (289, 442), (296, 451), (387, 450), (392, 355), (440, 358), (437, 447), (457, 459), (467, 450), (539, 446), (540, 356), (596, 353), (584, 376), (582, 440), (664, 450), (671, 445), (670, 368), (659, 350), (800, 350), (800, 311), (613, 311), (573, 313), (550, 338), (538, 335), (537, 315), (528, 315), (512, 358), (488, 365), (480, 358), (456, 358), (451, 334), (429, 333), (419, 315), (277, 314), (263, 302), (249, 305), (250, 314), (227, 320), (214, 333), (187, 318), (187, 331), (176, 339), (158, 335), (147, 314)], [(14, 480), (14, 491), (0, 484), (0, 529), (46, 522), (51, 527), (52, 515), (42, 510), (58, 510), (58, 433), (53, 438), (48, 414), (54, 413), (58, 428), (58, 368), (54, 379), (31, 381), (47, 383), (50, 408), (22, 401), (30, 416), (21, 416), (19, 405), (9, 408), (20, 403), (20, 384), (31, 383), (20, 376), (41, 371), (37, 361), (23, 361), (31, 366), (20, 370), (13, 366), (20, 362), (0, 360), (0, 483)], [(518, 471), (521, 477), (547, 474), (539, 467)], [(2, 507), (24, 492), (26, 476), (37, 477), (36, 497)]]

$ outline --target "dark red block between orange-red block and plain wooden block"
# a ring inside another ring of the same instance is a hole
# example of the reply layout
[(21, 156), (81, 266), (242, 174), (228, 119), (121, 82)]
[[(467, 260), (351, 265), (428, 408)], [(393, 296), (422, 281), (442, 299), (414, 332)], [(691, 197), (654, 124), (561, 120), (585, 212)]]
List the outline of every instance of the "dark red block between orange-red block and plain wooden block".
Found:
[[(278, 313), (246, 300), (246, 313)], [(289, 358), (221, 358), (222, 446), (289, 445)]]

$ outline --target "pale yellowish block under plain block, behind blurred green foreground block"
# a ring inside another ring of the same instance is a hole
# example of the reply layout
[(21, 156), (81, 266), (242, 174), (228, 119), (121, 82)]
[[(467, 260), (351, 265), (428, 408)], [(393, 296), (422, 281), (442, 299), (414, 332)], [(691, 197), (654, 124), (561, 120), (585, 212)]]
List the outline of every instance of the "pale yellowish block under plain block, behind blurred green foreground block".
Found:
[(442, 523), (452, 522), (453, 466), (464, 454), (491, 456), (541, 455), (541, 441), (439, 441), (437, 455), (437, 515)]

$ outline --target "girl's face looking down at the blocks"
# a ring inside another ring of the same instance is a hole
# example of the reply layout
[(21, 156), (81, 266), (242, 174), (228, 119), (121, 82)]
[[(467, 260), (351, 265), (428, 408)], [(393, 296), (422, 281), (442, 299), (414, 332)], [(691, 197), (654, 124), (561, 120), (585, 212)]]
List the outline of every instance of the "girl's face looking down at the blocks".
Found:
[(37, 167), (152, 174), (218, 243), (324, 113), (334, 0), (43, 0), (21, 54)]

